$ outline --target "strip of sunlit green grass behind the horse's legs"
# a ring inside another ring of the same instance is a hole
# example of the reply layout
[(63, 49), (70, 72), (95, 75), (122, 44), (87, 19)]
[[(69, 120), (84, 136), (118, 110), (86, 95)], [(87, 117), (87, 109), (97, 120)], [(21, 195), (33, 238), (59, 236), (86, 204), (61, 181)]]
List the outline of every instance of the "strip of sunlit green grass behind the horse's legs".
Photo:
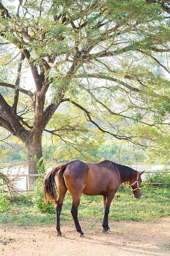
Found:
[[(120, 187), (111, 203), (109, 221), (149, 221), (158, 220), (170, 215), (170, 191), (169, 188), (148, 187), (141, 188), (140, 199), (131, 197), (131, 189)], [(118, 197), (117, 197), (118, 196)], [(53, 213), (41, 213), (33, 204), (32, 197), (20, 197), (10, 200), (9, 207), (0, 213), (0, 223), (17, 226), (43, 226), (54, 225), (56, 221), (55, 209)], [(72, 198), (66, 195), (60, 220), (69, 222), (72, 220), (70, 213)], [(103, 220), (103, 197), (81, 196), (78, 210), (80, 220)]]

